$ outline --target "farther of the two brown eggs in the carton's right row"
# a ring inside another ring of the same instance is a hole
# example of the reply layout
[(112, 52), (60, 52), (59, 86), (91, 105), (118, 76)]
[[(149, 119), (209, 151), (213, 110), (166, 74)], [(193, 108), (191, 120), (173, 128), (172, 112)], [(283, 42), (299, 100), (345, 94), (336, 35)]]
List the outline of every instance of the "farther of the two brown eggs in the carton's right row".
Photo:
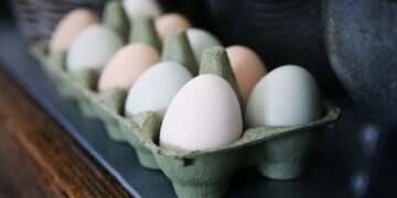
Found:
[(189, 20), (179, 13), (168, 13), (155, 19), (155, 29), (161, 41), (174, 29), (187, 30), (191, 26)]

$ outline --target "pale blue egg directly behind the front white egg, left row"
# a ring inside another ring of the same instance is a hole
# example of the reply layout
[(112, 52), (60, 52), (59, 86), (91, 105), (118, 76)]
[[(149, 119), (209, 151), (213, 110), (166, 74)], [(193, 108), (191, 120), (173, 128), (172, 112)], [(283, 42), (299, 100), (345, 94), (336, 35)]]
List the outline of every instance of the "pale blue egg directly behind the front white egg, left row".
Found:
[(171, 100), (191, 79), (190, 72), (175, 62), (162, 62), (150, 67), (128, 92), (126, 116), (153, 111), (163, 118)]

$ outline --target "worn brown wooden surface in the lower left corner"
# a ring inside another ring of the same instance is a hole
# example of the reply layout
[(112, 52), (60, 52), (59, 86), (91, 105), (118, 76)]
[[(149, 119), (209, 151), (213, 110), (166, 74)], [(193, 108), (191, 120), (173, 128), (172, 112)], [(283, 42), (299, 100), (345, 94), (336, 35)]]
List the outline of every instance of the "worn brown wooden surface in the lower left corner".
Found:
[(0, 70), (0, 197), (128, 197)]

